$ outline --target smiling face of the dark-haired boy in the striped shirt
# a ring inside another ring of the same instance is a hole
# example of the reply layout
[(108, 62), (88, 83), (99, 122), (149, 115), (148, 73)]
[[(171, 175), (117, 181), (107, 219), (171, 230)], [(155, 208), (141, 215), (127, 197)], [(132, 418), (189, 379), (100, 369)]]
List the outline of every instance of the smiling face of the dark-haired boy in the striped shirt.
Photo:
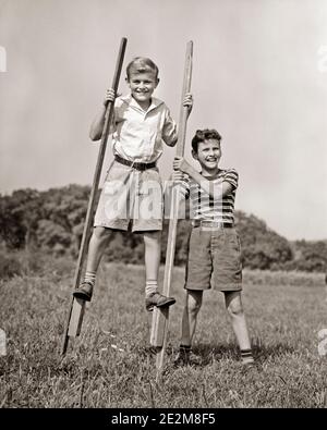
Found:
[(192, 155), (199, 162), (204, 172), (214, 174), (218, 171), (218, 163), (221, 158), (220, 142), (217, 139), (199, 142), (197, 152), (193, 150)]

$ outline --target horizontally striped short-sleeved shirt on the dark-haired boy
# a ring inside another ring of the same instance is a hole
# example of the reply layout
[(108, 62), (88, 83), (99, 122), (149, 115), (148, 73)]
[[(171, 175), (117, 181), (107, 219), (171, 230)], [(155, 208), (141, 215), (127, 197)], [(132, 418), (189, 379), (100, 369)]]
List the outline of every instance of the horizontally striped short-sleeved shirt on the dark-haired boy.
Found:
[[(208, 180), (204, 179), (204, 181)], [(233, 224), (235, 192), (239, 183), (238, 172), (234, 169), (220, 169), (218, 176), (209, 181), (214, 196), (209, 196), (192, 179), (181, 183), (182, 193), (190, 199), (190, 218)], [(229, 182), (232, 185), (232, 192), (221, 197), (223, 182)]]

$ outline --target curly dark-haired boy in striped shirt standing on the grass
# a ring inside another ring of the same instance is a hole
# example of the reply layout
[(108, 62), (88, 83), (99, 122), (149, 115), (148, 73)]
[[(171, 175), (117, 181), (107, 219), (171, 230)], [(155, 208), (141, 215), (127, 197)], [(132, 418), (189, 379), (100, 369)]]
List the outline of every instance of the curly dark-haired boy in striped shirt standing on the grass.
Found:
[(199, 364), (192, 349), (203, 292), (211, 286), (225, 294), (226, 307), (244, 365), (253, 365), (242, 300), (240, 238), (234, 229), (234, 199), (238, 173), (220, 169), (221, 136), (216, 130), (198, 130), (192, 139), (192, 156), (202, 172), (184, 158), (173, 161), (173, 181), (181, 182), (190, 198), (192, 232), (185, 275), (186, 299), (182, 317), (180, 352), (175, 364)]

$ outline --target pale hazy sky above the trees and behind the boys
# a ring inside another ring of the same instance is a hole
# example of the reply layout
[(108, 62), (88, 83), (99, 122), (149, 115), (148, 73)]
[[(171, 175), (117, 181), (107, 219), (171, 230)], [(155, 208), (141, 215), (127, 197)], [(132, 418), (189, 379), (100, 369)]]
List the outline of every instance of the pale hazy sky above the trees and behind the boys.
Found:
[[(122, 37), (124, 67), (152, 58), (155, 96), (178, 121), (192, 40), (186, 159), (195, 131), (217, 128), (220, 165), (240, 175), (235, 208), (288, 239), (326, 239), (326, 22), (325, 0), (0, 0), (0, 194), (92, 184), (89, 125)], [(109, 142), (102, 179), (111, 160)]]

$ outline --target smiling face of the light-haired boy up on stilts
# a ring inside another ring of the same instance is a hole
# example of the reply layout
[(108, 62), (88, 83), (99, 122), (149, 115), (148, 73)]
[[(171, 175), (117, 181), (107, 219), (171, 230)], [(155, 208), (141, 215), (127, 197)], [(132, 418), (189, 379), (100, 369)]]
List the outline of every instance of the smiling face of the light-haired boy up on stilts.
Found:
[(132, 97), (143, 109), (147, 109), (159, 79), (154, 72), (133, 72), (126, 78)]

